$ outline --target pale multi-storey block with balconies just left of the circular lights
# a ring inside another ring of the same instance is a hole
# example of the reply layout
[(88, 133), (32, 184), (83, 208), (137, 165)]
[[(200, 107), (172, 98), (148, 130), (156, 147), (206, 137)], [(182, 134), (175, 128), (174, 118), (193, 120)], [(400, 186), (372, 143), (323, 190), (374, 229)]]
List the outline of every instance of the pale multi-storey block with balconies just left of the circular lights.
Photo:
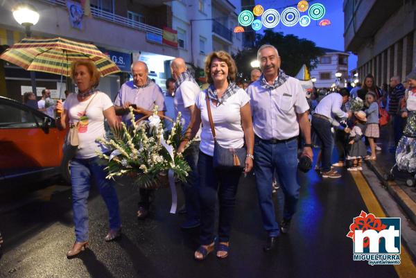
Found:
[(241, 1), (181, 0), (172, 1), (171, 6), (179, 55), (187, 64), (203, 69), (211, 51), (237, 53), (242, 49), (242, 34), (233, 32)]

